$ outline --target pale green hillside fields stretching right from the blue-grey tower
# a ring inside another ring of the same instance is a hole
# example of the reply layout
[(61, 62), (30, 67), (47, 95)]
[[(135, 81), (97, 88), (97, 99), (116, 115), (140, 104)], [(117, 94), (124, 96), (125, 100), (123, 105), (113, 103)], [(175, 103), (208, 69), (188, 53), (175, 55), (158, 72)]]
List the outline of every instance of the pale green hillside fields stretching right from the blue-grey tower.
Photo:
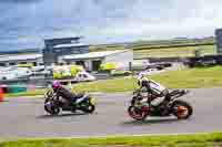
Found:
[[(169, 40), (169, 41), (137, 41), (132, 42), (128, 49), (132, 49), (134, 59), (143, 57), (186, 57), (194, 56), (194, 51), (201, 49), (202, 54), (215, 54), (216, 45), (214, 39), (205, 39), (201, 42), (194, 40)], [(196, 44), (196, 46), (189, 46)], [(203, 45), (209, 44), (209, 45)], [(188, 45), (178, 46), (176, 45)], [(159, 48), (159, 49), (157, 49)], [(90, 51), (112, 51), (123, 50), (123, 44), (90, 45)]]

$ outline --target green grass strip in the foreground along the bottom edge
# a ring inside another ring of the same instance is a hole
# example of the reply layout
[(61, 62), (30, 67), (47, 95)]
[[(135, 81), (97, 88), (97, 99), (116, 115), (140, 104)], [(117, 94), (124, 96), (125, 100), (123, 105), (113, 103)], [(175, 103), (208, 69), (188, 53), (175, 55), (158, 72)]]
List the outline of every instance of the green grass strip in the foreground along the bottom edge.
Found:
[(0, 143), (0, 147), (220, 147), (222, 133), (168, 135), (168, 136), (122, 136), (73, 139), (23, 139)]

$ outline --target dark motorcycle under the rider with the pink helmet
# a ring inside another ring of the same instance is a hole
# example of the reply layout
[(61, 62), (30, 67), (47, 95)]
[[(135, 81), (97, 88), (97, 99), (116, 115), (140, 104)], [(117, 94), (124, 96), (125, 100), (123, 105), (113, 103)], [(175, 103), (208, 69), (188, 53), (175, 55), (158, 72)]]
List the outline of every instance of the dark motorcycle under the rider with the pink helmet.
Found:
[(75, 113), (77, 111), (82, 111), (83, 113), (91, 114), (95, 109), (95, 101), (93, 97), (90, 97), (88, 94), (78, 94), (75, 95), (75, 102), (70, 103), (67, 106), (67, 102), (63, 102), (62, 97), (57, 96), (57, 93), (53, 91), (48, 91), (44, 94), (44, 111), (51, 115), (58, 115), (60, 109), (65, 112)]

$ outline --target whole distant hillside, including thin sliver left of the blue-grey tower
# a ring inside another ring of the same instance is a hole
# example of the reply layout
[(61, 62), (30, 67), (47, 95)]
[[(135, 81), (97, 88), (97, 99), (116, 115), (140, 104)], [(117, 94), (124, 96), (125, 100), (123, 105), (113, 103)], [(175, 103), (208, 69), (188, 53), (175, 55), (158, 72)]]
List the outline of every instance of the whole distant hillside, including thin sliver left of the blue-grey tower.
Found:
[[(172, 39), (157, 41), (134, 41), (110, 44), (90, 44), (90, 51), (110, 51), (132, 49), (134, 59), (145, 57), (169, 57), (169, 56), (193, 56), (196, 49), (201, 49), (203, 54), (215, 54), (216, 44), (213, 36), (202, 39)], [(41, 49), (26, 49), (17, 51), (4, 51), (0, 54), (23, 54), (41, 53)]]

